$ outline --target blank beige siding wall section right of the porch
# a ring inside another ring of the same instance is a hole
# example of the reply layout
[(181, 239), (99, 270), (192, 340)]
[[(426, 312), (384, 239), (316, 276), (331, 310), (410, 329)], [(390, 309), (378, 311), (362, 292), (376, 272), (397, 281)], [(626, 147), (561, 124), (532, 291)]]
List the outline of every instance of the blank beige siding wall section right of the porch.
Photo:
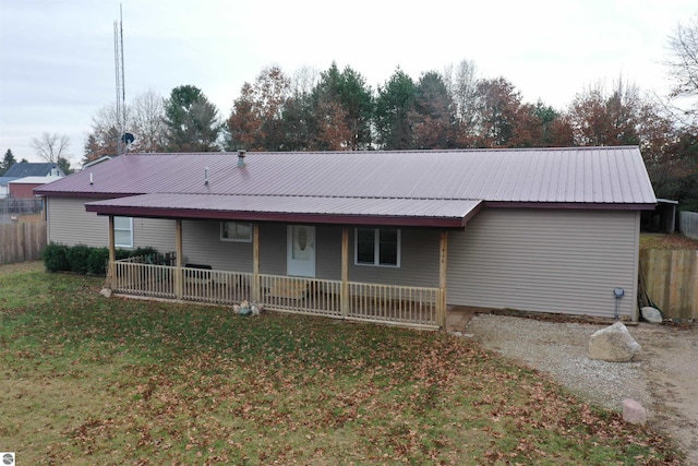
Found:
[(636, 319), (639, 213), (485, 208), (449, 234), (452, 304)]

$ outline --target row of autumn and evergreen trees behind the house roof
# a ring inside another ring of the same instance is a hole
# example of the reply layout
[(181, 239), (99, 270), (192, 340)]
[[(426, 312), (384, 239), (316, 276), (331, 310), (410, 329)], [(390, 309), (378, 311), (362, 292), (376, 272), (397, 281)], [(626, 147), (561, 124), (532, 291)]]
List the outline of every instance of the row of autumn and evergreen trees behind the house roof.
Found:
[[(375, 88), (333, 63), (292, 75), (267, 67), (221, 117), (202, 89), (154, 92), (125, 107), (129, 152), (449, 150), (638, 145), (659, 198), (698, 208), (698, 24), (679, 26), (667, 62), (675, 88), (662, 99), (618, 77), (580, 91), (563, 109), (524, 101), (504, 76), (479, 77), (464, 60), (412, 79), (397, 68)], [(691, 57), (693, 60), (691, 61)], [(117, 153), (115, 106), (93, 118), (83, 162)]]

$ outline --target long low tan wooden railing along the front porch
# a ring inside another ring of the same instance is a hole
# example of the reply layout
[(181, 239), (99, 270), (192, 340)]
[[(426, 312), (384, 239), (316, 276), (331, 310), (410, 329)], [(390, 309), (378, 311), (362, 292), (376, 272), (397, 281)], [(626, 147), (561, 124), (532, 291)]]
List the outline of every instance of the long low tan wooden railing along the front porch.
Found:
[(445, 312), (440, 309), (440, 288), (267, 274), (255, 277), (200, 267), (182, 267), (181, 279), (177, 279), (177, 271), (168, 265), (116, 261), (111, 287), (124, 295), (217, 304), (248, 299), (270, 310), (430, 328), (440, 326), (440, 312)]

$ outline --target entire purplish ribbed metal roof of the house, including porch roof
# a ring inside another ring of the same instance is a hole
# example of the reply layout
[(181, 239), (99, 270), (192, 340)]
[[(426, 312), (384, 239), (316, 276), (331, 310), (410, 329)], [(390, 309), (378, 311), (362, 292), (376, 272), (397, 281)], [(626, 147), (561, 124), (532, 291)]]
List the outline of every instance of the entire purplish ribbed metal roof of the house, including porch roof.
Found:
[(236, 153), (129, 154), (35, 192), (137, 195), (87, 205), (88, 211), (113, 215), (242, 218), (254, 212), (279, 220), (310, 216), (304, 222), (411, 216), (443, 226), (455, 226), (454, 215), (461, 215), (464, 225), (480, 203), (653, 208), (657, 202), (639, 150), (626, 146), (249, 153), (244, 168), (237, 164)]

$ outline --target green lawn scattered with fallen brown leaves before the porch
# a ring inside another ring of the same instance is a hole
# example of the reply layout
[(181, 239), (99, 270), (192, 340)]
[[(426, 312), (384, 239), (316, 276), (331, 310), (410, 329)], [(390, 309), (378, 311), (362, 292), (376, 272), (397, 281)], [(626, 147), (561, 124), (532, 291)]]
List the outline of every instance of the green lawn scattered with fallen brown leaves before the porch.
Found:
[(468, 339), (2, 268), (0, 451), (21, 464), (679, 464)]

